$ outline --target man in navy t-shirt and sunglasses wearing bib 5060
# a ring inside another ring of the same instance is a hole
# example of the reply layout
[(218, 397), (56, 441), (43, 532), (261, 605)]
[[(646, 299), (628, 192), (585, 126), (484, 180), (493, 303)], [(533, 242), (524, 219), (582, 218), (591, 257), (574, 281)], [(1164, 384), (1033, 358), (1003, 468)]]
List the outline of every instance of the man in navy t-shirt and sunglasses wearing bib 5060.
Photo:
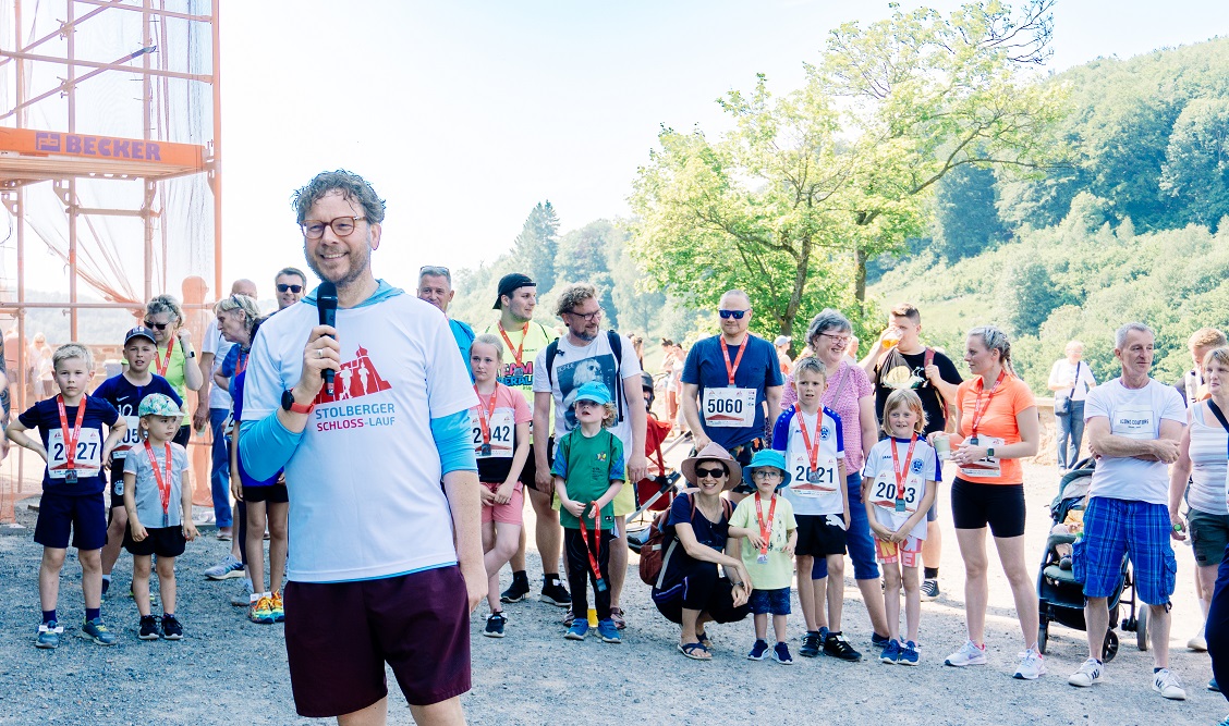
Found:
[[(746, 292), (723, 295), (718, 314), (721, 334), (698, 340), (683, 364), (683, 416), (696, 451), (713, 441), (747, 466), (752, 452), (767, 443), (764, 416), (775, 423), (780, 414), (784, 380), (777, 349), (747, 332), (752, 311)], [(740, 484), (731, 499), (753, 490)]]

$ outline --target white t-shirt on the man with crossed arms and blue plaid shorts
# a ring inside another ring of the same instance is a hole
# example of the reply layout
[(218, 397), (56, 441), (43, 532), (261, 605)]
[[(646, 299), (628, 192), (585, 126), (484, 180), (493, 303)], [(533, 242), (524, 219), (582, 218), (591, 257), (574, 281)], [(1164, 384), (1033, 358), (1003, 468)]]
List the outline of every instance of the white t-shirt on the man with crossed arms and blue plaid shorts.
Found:
[[(1110, 434), (1141, 441), (1160, 439), (1163, 420), (1186, 425), (1182, 397), (1152, 378), (1143, 388), (1127, 388), (1122, 378), (1094, 388), (1084, 404), (1084, 420), (1096, 416), (1110, 420)], [(1134, 457), (1100, 457), (1088, 495), (1168, 504), (1169, 467)]]

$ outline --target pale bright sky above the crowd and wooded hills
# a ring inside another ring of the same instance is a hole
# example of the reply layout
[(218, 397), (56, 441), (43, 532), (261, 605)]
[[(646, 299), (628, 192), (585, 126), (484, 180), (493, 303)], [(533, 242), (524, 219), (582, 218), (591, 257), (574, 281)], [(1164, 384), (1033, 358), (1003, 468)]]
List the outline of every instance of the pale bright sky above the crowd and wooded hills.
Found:
[[(494, 259), (541, 200), (564, 231), (624, 215), (661, 124), (715, 134), (719, 96), (756, 72), (796, 87), (831, 28), (887, 5), (226, 0), (224, 280), (272, 297), (274, 271), (302, 267), (289, 197), (322, 170), (387, 200), (374, 264), (404, 286), (423, 264)], [(1229, 2), (1059, 0), (1054, 20), (1062, 70), (1224, 33)]]

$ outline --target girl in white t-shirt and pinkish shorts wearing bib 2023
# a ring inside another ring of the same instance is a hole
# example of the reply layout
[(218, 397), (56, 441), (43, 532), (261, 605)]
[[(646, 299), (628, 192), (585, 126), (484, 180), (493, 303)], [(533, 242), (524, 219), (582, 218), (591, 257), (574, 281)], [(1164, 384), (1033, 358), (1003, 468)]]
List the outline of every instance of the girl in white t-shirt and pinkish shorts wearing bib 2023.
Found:
[[(925, 430), (922, 399), (908, 388), (897, 388), (884, 403), (884, 439), (866, 456), (863, 501), (875, 560), (884, 568), (884, 608), (889, 641), (879, 660), (889, 665), (918, 665), (918, 619), (922, 590), (918, 563), (925, 539), (925, 513), (943, 478), (934, 448), (921, 437)], [(905, 620), (908, 639), (901, 638), (901, 584), (905, 585)]]

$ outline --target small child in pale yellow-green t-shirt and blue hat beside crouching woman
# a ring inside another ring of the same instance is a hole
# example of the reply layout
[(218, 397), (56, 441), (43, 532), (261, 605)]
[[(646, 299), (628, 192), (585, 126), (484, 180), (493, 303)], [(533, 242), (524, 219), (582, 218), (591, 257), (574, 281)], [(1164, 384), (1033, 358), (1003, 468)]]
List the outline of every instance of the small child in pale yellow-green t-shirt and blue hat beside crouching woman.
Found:
[(755, 615), (756, 641), (747, 657), (762, 661), (768, 655), (768, 614), (772, 613), (777, 645), (772, 649), (778, 663), (794, 662), (785, 644), (785, 617), (789, 615), (789, 584), (794, 575), (794, 547), (798, 522), (794, 507), (778, 494), (789, 484), (785, 457), (779, 451), (762, 450), (746, 468), (756, 493), (739, 502), (730, 517), (730, 537), (740, 538), (742, 563), (751, 574), (755, 590), (747, 604)]

